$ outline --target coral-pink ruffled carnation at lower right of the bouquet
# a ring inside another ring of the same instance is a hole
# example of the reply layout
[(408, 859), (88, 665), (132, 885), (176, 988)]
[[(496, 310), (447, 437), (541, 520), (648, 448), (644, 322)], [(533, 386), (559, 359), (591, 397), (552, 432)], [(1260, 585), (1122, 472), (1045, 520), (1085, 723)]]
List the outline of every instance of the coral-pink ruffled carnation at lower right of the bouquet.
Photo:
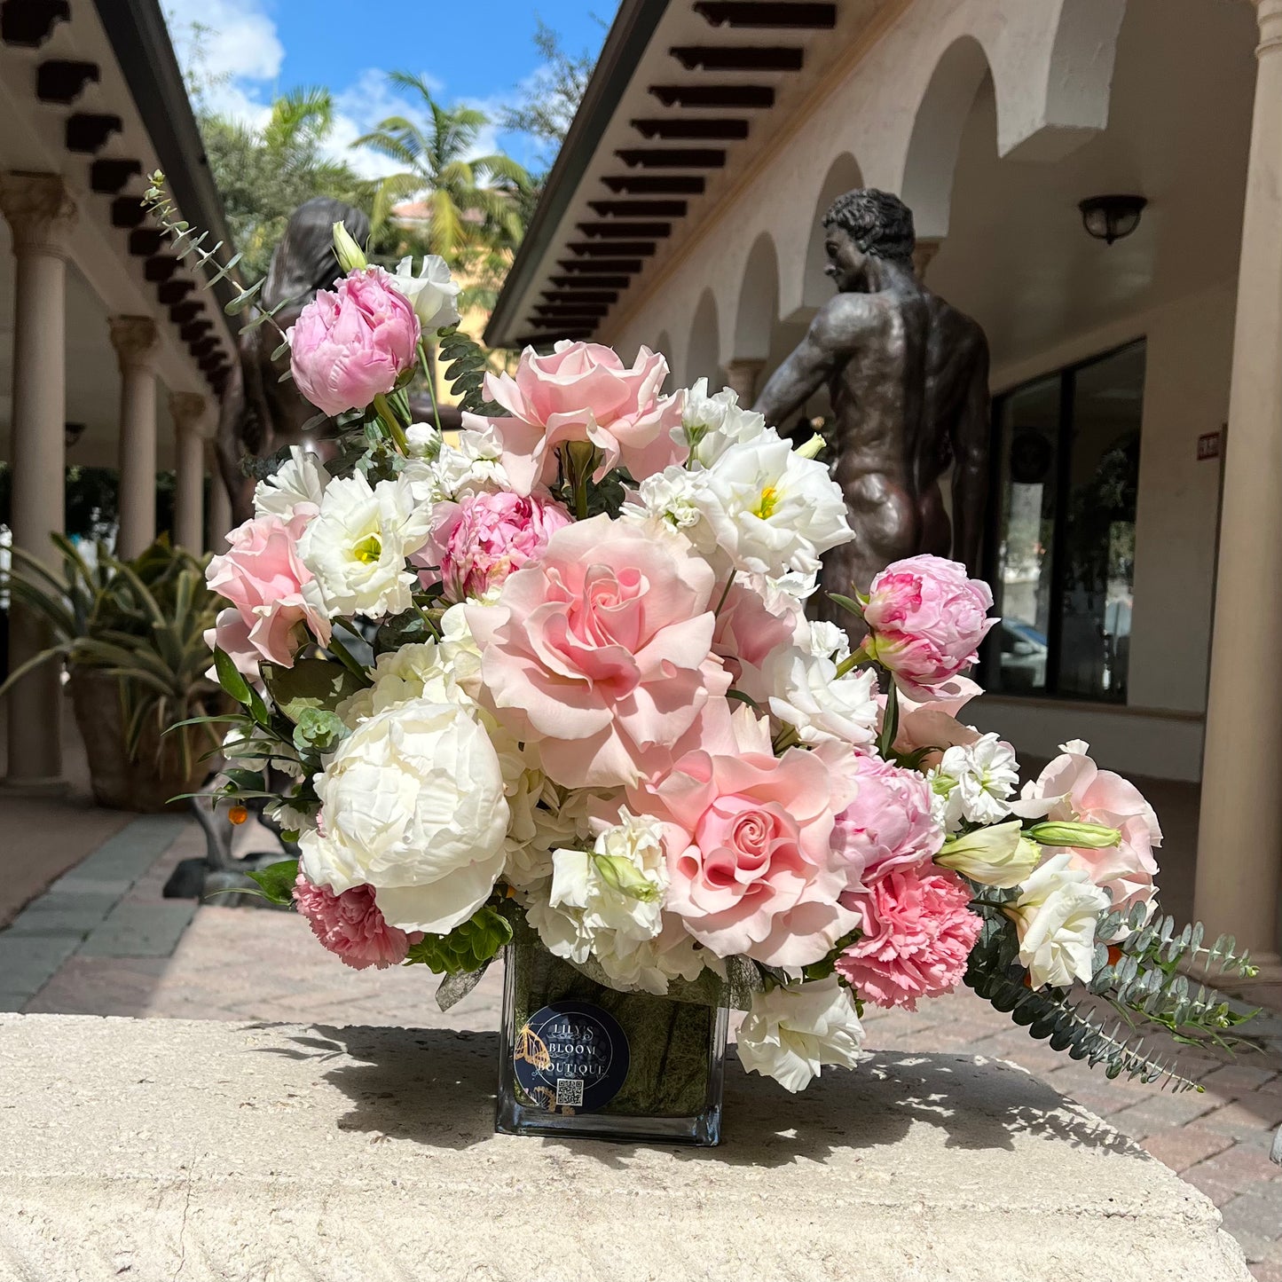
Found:
[(837, 958), (837, 973), (860, 997), (915, 1010), (918, 997), (960, 983), (982, 924), (960, 877), (895, 870), (842, 903), (859, 913), (863, 933)]

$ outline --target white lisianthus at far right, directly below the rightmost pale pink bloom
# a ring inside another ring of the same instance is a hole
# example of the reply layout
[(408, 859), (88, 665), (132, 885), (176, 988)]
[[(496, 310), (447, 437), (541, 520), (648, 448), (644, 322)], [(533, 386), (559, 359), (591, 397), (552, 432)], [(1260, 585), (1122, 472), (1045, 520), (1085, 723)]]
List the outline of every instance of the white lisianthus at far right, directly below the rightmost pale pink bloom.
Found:
[(1095, 926), (1109, 896), (1085, 869), (1070, 868), (1070, 859), (1047, 859), (1004, 909), (1019, 932), (1019, 960), (1035, 988), (1088, 983), (1094, 974)]

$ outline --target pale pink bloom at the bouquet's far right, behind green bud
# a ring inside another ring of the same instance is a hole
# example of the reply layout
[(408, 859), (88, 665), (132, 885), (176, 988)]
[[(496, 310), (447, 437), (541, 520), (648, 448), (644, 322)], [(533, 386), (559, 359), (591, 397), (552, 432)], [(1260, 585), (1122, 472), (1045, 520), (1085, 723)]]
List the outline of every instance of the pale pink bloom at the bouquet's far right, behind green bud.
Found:
[(1047, 846), (1047, 859), (1068, 854), (1069, 867), (1079, 868), (1091, 881), (1113, 896), (1113, 906), (1128, 910), (1132, 904), (1153, 903), (1158, 860), (1154, 846), (1161, 845), (1158, 815), (1140, 790), (1114, 774), (1101, 770), (1087, 755), (1081, 740), (1064, 744), (1041, 774), (1024, 785), (1014, 810), (1024, 818), (1081, 820), (1117, 828), (1122, 840), (1104, 850), (1077, 846)]

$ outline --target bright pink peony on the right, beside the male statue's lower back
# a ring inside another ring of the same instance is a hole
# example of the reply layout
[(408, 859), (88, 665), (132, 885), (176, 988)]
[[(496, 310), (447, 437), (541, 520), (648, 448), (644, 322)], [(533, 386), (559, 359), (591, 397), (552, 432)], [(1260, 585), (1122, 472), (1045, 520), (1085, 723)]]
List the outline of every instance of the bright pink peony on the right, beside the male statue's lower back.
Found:
[(955, 677), (978, 655), (996, 619), (988, 585), (967, 578), (965, 567), (942, 556), (909, 556), (872, 582), (864, 651), (888, 668), (915, 699)]

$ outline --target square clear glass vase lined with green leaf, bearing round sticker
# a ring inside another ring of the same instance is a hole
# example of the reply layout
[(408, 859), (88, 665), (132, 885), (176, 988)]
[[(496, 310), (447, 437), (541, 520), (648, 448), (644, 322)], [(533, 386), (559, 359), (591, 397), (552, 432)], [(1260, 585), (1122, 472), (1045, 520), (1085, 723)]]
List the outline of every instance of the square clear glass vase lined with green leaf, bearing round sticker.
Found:
[(727, 1005), (618, 992), (528, 927), (504, 956), (495, 1131), (712, 1146)]

